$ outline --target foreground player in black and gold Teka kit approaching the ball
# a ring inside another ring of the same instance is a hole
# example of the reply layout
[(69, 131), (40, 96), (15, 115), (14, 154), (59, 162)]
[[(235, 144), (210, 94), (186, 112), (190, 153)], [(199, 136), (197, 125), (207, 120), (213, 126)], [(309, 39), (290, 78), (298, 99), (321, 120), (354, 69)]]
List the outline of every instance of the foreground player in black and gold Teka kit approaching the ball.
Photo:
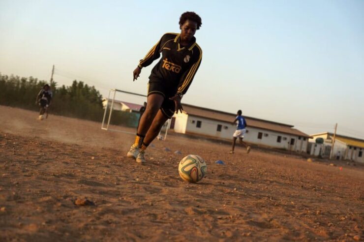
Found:
[(152, 64), (162, 53), (149, 76), (147, 108), (144, 112), (134, 144), (127, 153), (144, 163), (148, 145), (158, 135), (165, 121), (175, 111), (182, 112), (181, 99), (195, 76), (202, 59), (202, 50), (194, 34), (201, 27), (201, 18), (194, 12), (185, 12), (180, 18), (181, 33), (166, 33), (152, 47), (133, 72), (136, 80), (143, 67)]

